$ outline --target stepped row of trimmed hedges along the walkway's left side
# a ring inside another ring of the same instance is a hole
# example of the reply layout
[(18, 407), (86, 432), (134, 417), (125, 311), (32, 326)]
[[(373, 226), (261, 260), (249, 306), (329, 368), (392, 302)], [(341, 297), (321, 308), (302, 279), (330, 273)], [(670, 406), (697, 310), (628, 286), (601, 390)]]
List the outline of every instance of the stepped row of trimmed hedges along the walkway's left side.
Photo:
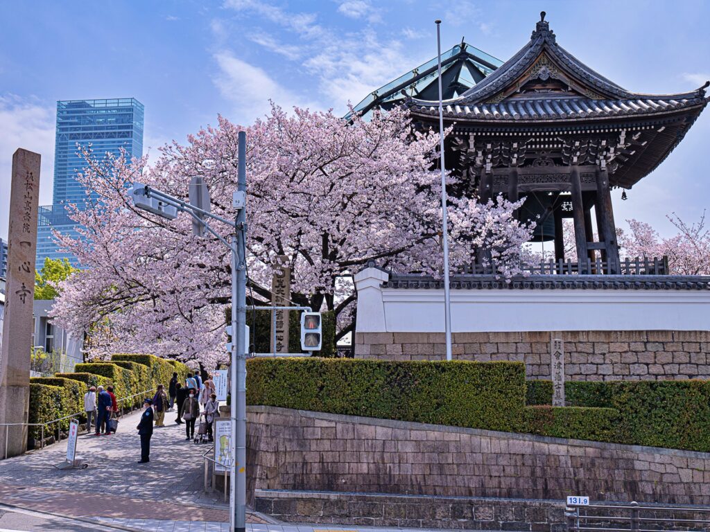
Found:
[[(74, 373), (57, 373), (55, 377), (35, 377), (30, 384), (30, 423), (46, 423), (77, 412), (84, 411), (84, 393), (91, 386), (114, 386), (119, 406), (128, 408), (141, 406), (143, 397), (151, 393), (141, 394), (154, 389), (158, 384), (168, 387), (173, 372), (178, 372), (178, 379), (187, 376), (187, 366), (175, 360), (165, 360), (153, 355), (114, 355), (112, 360), (105, 362), (82, 363), (75, 366)], [(121, 399), (139, 394), (131, 399)], [(80, 416), (80, 421), (86, 421)], [(70, 420), (66, 419), (51, 429), (69, 428)], [(30, 428), (30, 438), (40, 436), (39, 427)], [(47, 436), (45, 431), (45, 436)]]

